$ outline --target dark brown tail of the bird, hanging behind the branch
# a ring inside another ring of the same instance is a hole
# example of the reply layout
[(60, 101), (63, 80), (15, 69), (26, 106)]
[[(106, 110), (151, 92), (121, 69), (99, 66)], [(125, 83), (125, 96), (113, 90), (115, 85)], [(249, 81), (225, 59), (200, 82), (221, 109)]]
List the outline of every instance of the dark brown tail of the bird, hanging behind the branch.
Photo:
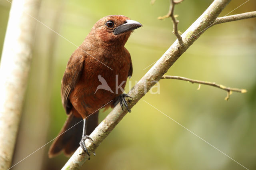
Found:
[[(90, 115), (87, 118), (86, 122), (87, 122), (86, 134), (90, 135), (91, 132), (98, 126), (98, 112)], [(66, 156), (71, 156), (79, 147), (79, 142), (82, 137), (82, 131), (83, 131), (82, 118), (77, 118), (72, 113), (68, 115), (68, 119), (66, 120), (62, 129), (60, 130), (58, 137), (54, 140), (54, 142), (50, 146), (50, 149), (48, 152), (49, 158), (57, 156), (58, 154), (60, 154), (62, 150)]]

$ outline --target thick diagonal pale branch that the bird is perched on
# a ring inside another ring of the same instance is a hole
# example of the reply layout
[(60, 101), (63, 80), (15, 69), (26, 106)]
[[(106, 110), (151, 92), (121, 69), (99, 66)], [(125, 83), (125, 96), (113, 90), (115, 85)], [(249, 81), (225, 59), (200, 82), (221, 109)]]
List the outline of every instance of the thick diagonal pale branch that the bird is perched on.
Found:
[[(174, 62), (194, 43), (200, 35), (209, 28), (210, 23), (213, 23), (220, 12), (230, 0), (214, 0), (207, 10), (182, 34), (184, 45), (180, 46), (176, 40), (169, 49), (162, 55), (160, 59), (150, 68), (150, 70), (138, 81), (138, 83), (129, 91), (128, 95), (132, 99), (126, 99), (128, 107), (132, 108), (149, 90), (153, 87)], [(95, 128), (90, 134), (93, 142), (86, 140), (86, 147), (88, 152), (92, 154), (100, 143), (108, 136), (112, 129), (121, 121), (126, 115), (127, 110), (122, 111), (120, 105), (116, 105), (108, 116)], [(71, 156), (66, 162), (62, 170), (78, 170), (84, 162), (89, 158), (81, 147)]]

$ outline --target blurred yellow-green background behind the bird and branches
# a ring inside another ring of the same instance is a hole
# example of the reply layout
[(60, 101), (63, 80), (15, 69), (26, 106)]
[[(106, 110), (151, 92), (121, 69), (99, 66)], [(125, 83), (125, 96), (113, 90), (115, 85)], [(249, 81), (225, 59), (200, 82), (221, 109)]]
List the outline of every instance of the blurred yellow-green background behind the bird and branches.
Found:
[[(246, 0), (233, 0), (220, 16)], [(185, 0), (175, 8), (184, 32), (212, 0)], [(0, 51), (10, 3), (0, 0)], [(133, 61), (132, 85), (176, 40), (168, 12), (168, 0), (43, 0), (38, 20), (76, 45), (94, 23), (110, 14), (123, 14), (143, 24), (126, 48)], [(248, 1), (230, 14), (256, 10)], [(160, 94), (143, 99), (229, 155), (248, 169), (256, 169), (256, 19), (241, 20), (208, 29), (170, 68), (166, 75), (214, 81), (248, 90), (233, 93), (179, 80), (161, 80)], [(52, 140), (66, 114), (61, 105), (60, 81), (66, 63), (76, 49), (44, 25), (37, 23), (33, 61), (26, 100), (14, 152), (13, 170), (57, 170), (68, 160), (63, 154), (49, 159)], [(153, 89), (154, 90), (154, 89)], [(128, 91), (128, 87), (126, 88)], [(233, 170), (244, 169), (160, 111), (140, 100), (84, 164), (86, 170)], [(100, 111), (100, 121), (111, 111)], [(47, 144), (46, 144), (47, 143)], [(45, 145), (44, 145), (45, 144)]]

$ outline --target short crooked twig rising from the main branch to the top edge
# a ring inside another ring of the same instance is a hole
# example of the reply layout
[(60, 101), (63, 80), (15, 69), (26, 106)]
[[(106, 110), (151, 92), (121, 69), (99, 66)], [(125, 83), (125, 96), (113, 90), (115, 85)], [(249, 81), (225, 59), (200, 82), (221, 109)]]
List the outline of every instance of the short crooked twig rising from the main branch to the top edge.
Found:
[(170, 0), (170, 7), (169, 7), (169, 12), (168, 14), (166, 14), (165, 16), (159, 16), (158, 20), (163, 20), (165, 18), (171, 17), (172, 18), (172, 23), (173, 23), (173, 31), (172, 33), (177, 37), (180, 45), (183, 44), (183, 40), (182, 37), (180, 36), (179, 32), (178, 32), (178, 23), (179, 21), (176, 20), (176, 16), (174, 16), (174, 6), (176, 4), (179, 4), (180, 2), (182, 2), (183, 0), (179, 0), (179, 1), (174, 1), (174, 0)]

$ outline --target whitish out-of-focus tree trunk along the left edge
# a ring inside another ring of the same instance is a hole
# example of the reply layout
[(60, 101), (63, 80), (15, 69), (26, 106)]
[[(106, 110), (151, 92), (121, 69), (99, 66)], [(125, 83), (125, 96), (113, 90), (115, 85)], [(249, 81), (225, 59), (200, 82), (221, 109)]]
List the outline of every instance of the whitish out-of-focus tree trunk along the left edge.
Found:
[[(12, 162), (40, 0), (13, 0), (0, 63), (0, 169)], [(31, 15), (31, 16), (30, 16)]]

